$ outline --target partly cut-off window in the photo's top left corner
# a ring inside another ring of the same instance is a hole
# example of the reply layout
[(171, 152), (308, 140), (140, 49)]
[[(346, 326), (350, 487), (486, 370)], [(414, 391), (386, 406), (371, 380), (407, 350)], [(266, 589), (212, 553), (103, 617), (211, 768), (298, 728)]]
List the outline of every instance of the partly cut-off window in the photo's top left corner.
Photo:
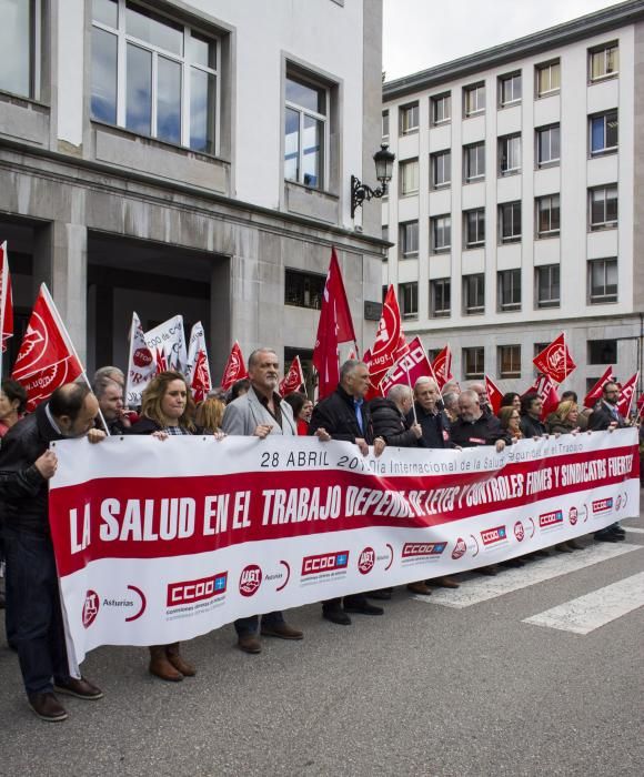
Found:
[(40, 0), (0, 0), (0, 90), (39, 97)]

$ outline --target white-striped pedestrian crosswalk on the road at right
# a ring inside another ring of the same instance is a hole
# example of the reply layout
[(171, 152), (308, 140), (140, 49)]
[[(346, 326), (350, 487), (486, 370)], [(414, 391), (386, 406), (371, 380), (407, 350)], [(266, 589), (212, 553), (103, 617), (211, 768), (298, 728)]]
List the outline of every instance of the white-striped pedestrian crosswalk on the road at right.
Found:
[[(635, 527), (625, 528), (632, 534), (644, 533), (644, 529)], [(644, 551), (644, 545), (628, 542), (591, 544), (583, 552), (555, 554), (521, 568), (503, 569), (495, 577), (472, 575), (463, 579), (455, 591), (439, 588), (433, 591), (431, 597), (413, 598), (424, 604), (463, 609), (641, 551)], [(561, 603), (543, 613), (531, 614), (522, 623), (585, 635), (642, 606), (644, 573)]]

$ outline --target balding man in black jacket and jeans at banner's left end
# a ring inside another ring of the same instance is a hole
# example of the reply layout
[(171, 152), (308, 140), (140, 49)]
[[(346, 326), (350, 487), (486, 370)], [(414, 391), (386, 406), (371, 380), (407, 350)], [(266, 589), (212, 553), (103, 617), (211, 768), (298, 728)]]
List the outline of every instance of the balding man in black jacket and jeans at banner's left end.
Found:
[(94, 685), (69, 675), (48, 505), (48, 481), (57, 467), (50, 443), (85, 434), (90, 442), (102, 440), (104, 432), (93, 428), (98, 410), (85, 385), (61, 386), (11, 428), (0, 452), (9, 604), (17, 614), (14, 643), (29, 704), (49, 722), (67, 717), (54, 688), (82, 699), (102, 697)]

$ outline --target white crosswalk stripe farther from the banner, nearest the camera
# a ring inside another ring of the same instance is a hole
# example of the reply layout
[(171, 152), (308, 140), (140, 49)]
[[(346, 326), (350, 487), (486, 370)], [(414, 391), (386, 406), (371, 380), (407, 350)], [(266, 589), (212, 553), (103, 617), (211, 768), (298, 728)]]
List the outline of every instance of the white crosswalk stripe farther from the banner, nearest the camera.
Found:
[(524, 618), (523, 623), (573, 634), (590, 634), (642, 606), (644, 572)]

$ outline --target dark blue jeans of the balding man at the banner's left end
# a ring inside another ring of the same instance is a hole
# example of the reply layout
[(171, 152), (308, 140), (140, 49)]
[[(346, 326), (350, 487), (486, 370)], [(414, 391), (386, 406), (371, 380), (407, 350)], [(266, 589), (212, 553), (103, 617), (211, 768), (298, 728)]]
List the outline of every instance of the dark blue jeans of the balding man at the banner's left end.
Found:
[(27, 694), (53, 690), (70, 677), (53, 548), (48, 537), (6, 528), (13, 642)]

